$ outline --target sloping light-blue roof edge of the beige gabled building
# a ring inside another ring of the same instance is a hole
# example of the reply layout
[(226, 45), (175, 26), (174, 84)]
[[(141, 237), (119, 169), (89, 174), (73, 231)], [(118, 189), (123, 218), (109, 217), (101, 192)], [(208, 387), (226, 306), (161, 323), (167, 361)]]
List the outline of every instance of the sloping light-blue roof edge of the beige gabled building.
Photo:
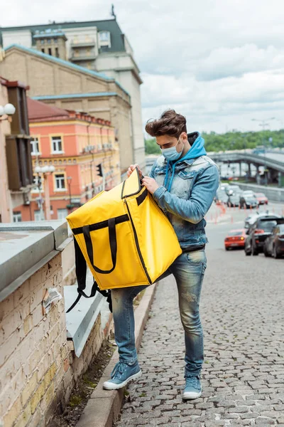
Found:
[(116, 83), (117, 86), (119, 86), (119, 88), (121, 88), (121, 90), (124, 91), (124, 93), (126, 93), (126, 95), (128, 95), (130, 97), (129, 93), (121, 86), (121, 84), (119, 82), (117, 82), (114, 78), (109, 77), (103, 73), (98, 73), (97, 71), (88, 70), (87, 68), (81, 67), (80, 65), (76, 65), (76, 64), (71, 63), (69, 60), (63, 60), (60, 58), (55, 58), (55, 56), (48, 55), (47, 53), (37, 51), (36, 49), (33, 49), (33, 48), (26, 48), (25, 46), (21, 46), (18, 44), (11, 44), (10, 46), (6, 47), (5, 52), (9, 51), (12, 48), (16, 48), (16, 49), (18, 49), (20, 51), (24, 51), (26, 53), (31, 53), (32, 55), (35, 55), (35, 56), (40, 56), (43, 59), (50, 60), (50, 61), (58, 63), (60, 65), (65, 65), (65, 67), (69, 67), (69, 68), (72, 68), (73, 70), (80, 71), (80, 73), (92, 75), (92, 77), (101, 78), (102, 80), (107, 80), (109, 82), (114, 82), (114, 83)]

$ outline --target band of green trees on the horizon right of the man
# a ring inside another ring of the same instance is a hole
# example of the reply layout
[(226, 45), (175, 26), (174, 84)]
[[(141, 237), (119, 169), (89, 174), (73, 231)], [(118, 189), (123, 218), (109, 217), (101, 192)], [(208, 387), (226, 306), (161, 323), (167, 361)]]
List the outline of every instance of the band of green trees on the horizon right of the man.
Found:
[[(203, 133), (207, 152), (227, 151), (231, 149), (253, 149), (263, 145), (266, 149), (284, 147), (284, 130), (263, 130), (261, 132), (215, 132)], [(272, 138), (272, 142), (269, 142)]]

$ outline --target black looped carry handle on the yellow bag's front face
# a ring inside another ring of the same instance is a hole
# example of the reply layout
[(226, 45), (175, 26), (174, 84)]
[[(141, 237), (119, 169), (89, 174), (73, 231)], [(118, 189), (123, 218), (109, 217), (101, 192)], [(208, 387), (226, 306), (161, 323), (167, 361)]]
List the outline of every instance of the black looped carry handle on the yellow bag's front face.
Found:
[(93, 251), (93, 245), (92, 245), (92, 239), (90, 236), (90, 230), (89, 226), (83, 226), (83, 234), (84, 234), (84, 241), (86, 243), (87, 247), (87, 253), (89, 257), (89, 262), (92, 264), (92, 267), (97, 273), (101, 274), (109, 274), (111, 271), (114, 271), (114, 268), (116, 268), (116, 254), (117, 254), (117, 241), (116, 241), (116, 220), (115, 218), (110, 218), (108, 221), (108, 228), (109, 228), (109, 246), (111, 248), (111, 261), (112, 261), (112, 267), (110, 270), (101, 270), (97, 265), (94, 265), (94, 251)]

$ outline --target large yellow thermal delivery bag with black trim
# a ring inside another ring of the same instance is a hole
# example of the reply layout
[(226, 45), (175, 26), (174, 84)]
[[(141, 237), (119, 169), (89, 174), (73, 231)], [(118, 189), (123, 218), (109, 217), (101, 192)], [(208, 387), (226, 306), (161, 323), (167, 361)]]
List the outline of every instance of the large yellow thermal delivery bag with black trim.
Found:
[[(182, 253), (170, 221), (141, 186), (138, 169), (67, 221), (99, 290), (151, 285)], [(78, 292), (87, 297), (79, 283)]]

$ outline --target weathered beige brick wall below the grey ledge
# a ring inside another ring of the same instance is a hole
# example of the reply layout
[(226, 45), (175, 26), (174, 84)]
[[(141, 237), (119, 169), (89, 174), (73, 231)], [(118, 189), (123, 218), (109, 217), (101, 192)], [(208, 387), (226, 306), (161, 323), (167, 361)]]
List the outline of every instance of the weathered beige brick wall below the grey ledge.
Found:
[(43, 315), (45, 290), (63, 295), (63, 270), (58, 253), (0, 303), (0, 426), (46, 426), (101, 347), (100, 317), (78, 359), (67, 342), (64, 300)]

